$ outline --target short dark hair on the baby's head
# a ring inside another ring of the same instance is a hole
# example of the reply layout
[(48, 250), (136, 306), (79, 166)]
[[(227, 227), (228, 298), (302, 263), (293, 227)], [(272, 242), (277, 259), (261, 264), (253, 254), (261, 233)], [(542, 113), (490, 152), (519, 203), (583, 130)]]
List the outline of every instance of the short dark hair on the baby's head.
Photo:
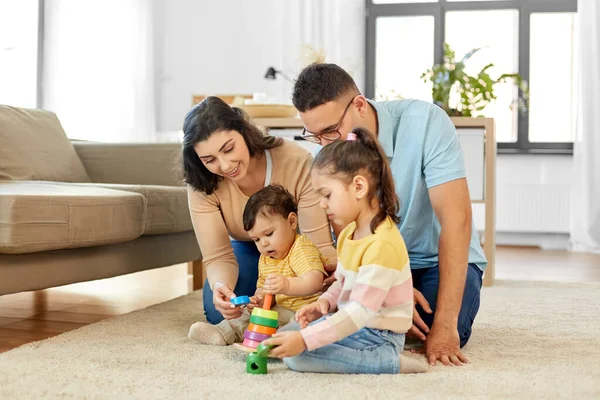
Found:
[(244, 208), (244, 230), (254, 228), (259, 214), (281, 215), (287, 218), (291, 213), (298, 214), (294, 197), (281, 185), (269, 185), (254, 193)]

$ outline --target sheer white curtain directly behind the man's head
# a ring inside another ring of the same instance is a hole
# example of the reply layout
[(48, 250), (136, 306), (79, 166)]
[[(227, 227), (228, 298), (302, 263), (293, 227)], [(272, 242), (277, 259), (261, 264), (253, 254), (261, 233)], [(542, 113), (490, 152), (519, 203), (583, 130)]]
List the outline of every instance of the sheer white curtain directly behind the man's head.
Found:
[[(365, 27), (364, 0), (286, 0), (281, 69), (293, 79), (324, 57), (348, 71), (364, 90)], [(292, 86), (283, 84), (283, 98), (290, 97)]]

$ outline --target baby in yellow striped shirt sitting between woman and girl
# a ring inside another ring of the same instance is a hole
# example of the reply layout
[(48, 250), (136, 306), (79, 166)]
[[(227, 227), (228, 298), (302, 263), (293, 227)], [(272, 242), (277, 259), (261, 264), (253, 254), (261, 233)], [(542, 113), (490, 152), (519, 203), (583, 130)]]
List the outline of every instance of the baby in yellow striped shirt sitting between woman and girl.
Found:
[(244, 229), (260, 252), (258, 281), (251, 304), (241, 317), (217, 325), (196, 322), (188, 337), (203, 344), (225, 346), (244, 339), (250, 312), (261, 307), (265, 294), (275, 295), (271, 309), (279, 313), (279, 326), (296, 311), (316, 301), (323, 290), (326, 260), (319, 249), (297, 233), (298, 207), (292, 195), (279, 185), (256, 192), (244, 209)]

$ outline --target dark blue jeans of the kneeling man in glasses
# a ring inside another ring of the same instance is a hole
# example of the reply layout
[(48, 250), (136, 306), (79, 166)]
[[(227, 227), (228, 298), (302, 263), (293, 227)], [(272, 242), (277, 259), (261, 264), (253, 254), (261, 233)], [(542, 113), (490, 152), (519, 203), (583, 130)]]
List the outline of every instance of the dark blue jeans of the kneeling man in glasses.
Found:
[[(435, 307), (437, 302), (437, 292), (440, 286), (440, 271), (439, 268), (417, 268), (412, 270), (413, 286), (423, 294), (429, 302), (429, 306), (433, 311), (432, 314), (427, 314), (421, 306), (417, 305), (417, 311), (423, 319), (423, 322), (431, 328), (433, 317), (435, 315)], [(471, 327), (475, 316), (479, 311), (479, 297), (481, 293), (483, 273), (475, 264), (469, 264), (467, 270), (467, 281), (465, 284), (465, 292), (463, 301), (458, 314), (458, 336), (460, 338), (460, 347), (463, 347), (471, 337)]]

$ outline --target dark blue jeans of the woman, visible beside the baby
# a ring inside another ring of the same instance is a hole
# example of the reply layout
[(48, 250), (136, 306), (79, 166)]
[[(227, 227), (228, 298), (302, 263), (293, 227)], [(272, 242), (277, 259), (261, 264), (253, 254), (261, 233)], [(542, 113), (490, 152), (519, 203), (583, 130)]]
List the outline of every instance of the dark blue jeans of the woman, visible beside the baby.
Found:
[[(260, 253), (254, 242), (242, 242), (232, 240), (231, 246), (239, 266), (238, 281), (233, 289), (236, 296), (254, 296), (256, 292), (256, 281), (258, 280), (258, 259)], [(204, 303), (204, 315), (206, 320), (216, 325), (223, 321), (224, 317), (217, 309), (212, 300), (213, 292), (208, 284), (204, 282), (202, 289), (202, 300)]]

